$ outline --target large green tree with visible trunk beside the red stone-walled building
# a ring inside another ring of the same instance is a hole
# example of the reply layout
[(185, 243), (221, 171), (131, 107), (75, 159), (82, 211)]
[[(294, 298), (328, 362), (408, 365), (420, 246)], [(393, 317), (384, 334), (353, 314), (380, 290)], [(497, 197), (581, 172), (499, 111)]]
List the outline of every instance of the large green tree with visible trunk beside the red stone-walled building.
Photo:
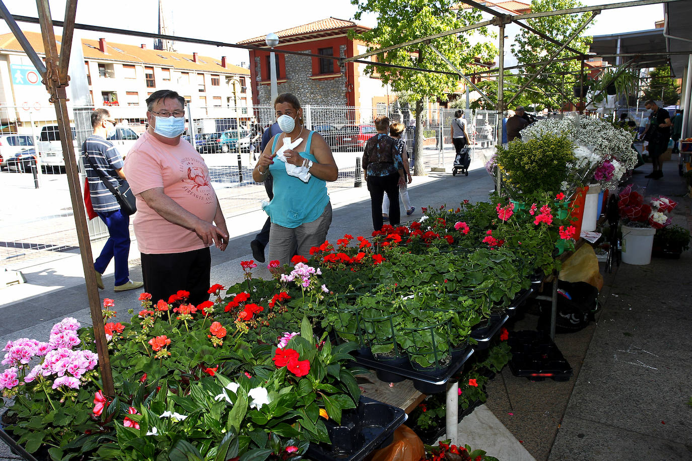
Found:
[[(387, 48), (421, 37), (428, 37), (447, 30), (461, 28), (479, 22), (482, 18), (476, 10), (451, 10), (457, 5), (453, 0), (351, 0), (358, 7), (355, 19), (361, 19), (363, 13), (377, 15), (377, 26), (358, 35), (368, 44), (368, 50)], [(489, 35), (486, 28), (478, 28), (477, 34)], [(480, 41), (471, 44), (468, 34), (454, 34), (439, 37), (430, 41), (449, 61), (462, 72), (471, 72), (474, 57), (482, 62), (493, 61), (497, 49), (488, 42)], [(424, 68), (431, 70), (452, 69), (426, 43), (419, 43), (405, 48), (397, 48), (376, 55), (377, 62), (397, 64), (399, 66)], [(479, 69), (480, 70), (480, 69)], [(454, 91), (459, 84), (455, 75), (428, 73), (418, 70), (406, 70), (368, 65), (365, 72), (376, 73), (383, 84), (390, 84), (396, 93), (407, 93), (416, 102), (416, 124), (423, 126), (424, 102), (428, 98), (447, 100), (447, 94)], [(419, 155), (422, 147), (422, 130), (416, 130), (415, 136), (415, 174), (424, 173), (423, 159)]]

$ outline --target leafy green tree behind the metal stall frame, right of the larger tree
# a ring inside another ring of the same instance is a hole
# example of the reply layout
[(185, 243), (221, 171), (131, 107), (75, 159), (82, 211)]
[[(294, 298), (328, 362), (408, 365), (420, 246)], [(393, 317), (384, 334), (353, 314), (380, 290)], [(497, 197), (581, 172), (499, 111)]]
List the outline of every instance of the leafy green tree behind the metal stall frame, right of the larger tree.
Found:
[[(584, 6), (583, 3), (577, 0), (532, 0), (531, 12), (566, 10), (581, 6)], [(527, 19), (526, 22), (532, 28), (563, 44), (590, 15), (590, 12), (585, 12), (581, 15), (546, 16)], [(586, 53), (589, 50), (590, 44), (591, 37), (577, 37), (568, 46), (579, 50), (581, 53)], [(555, 53), (558, 48), (560, 48), (560, 45), (547, 41), (524, 28), (515, 38), (515, 43), (511, 45), (512, 54), (517, 58), (519, 64), (523, 65), (538, 62), (541, 60), (540, 58), (547, 58)], [(570, 56), (574, 56), (574, 52), (562, 50), (556, 59)], [(540, 68), (540, 65), (527, 65), (522, 69), (522, 74), (533, 74), (538, 68)], [(538, 90), (538, 93), (527, 92), (526, 98), (531, 103), (553, 108), (562, 106), (562, 103), (565, 101), (577, 102), (578, 98), (574, 97), (572, 87), (579, 81), (580, 69), (581, 61), (579, 59), (549, 64), (529, 86), (529, 88)], [(517, 82), (518, 84), (524, 84), (528, 79), (529, 76), (520, 75)], [(509, 99), (505, 97), (505, 100)], [(520, 104), (514, 104), (513, 102), (512, 105)]]

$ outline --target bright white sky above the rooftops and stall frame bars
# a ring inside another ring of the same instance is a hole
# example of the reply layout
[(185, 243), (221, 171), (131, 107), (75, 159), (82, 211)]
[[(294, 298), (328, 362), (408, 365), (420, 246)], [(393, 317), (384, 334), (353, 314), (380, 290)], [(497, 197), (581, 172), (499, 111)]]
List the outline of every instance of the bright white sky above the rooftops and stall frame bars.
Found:
[[(36, 3), (32, 0), (4, 0), (13, 15), (37, 17)], [(605, 0), (581, 0), (587, 5), (599, 5)], [(266, 35), (300, 24), (336, 17), (353, 19), (356, 7), (349, 0), (164, 0), (167, 18), (173, 35), (194, 37), (206, 40), (237, 43), (237, 41)], [(64, 0), (51, 0), (54, 19), (64, 18)], [(663, 19), (663, 6), (639, 6), (604, 10), (588, 29), (589, 35), (606, 35), (632, 30), (654, 28), (654, 22)], [(93, 26), (107, 26), (143, 32), (156, 32), (158, 26), (158, 0), (80, 0), (77, 7), (78, 23)], [(374, 26), (375, 17), (363, 17), (360, 23)], [(38, 25), (19, 23), (25, 30), (39, 30)], [(4, 21), (0, 23), (0, 33), (9, 32)], [(60, 28), (56, 28), (61, 33)], [(126, 44), (147, 44), (152, 39), (140, 39), (127, 35), (104, 35), (99, 32), (79, 32), (83, 38), (98, 39), (106, 37), (109, 41)], [(174, 48), (181, 53), (196, 51), (211, 57), (227, 56), (233, 64), (248, 61), (248, 52), (237, 48), (219, 48), (175, 42)]]

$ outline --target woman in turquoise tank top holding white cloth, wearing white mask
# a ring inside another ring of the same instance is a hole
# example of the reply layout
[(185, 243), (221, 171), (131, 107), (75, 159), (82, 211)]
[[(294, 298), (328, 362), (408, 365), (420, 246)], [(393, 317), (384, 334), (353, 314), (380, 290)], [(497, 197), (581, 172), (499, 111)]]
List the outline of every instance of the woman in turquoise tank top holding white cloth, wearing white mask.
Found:
[(325, 242), (331, 224), (327, 181), (336, 180), (338, 168), (320, 133), (302, 125), (295, 95), (279, 95), (274, 109), (282, 133), (257, 159), (253, 180), (264, 182), (269, 173), (273, 178), (274, 198), (264, 206), (271, 218), (269, 260), (283, 265), (293, 254), (309, 258), (310, 248)]

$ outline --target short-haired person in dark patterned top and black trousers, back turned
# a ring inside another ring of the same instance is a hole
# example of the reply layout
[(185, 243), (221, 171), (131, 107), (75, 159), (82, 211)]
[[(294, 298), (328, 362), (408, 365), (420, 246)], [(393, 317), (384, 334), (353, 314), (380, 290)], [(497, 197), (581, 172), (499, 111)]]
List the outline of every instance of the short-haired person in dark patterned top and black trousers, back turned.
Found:
[(363, 170), (367, 190), (370, 191), (372, 227), (382, 229), (383, 197), (387, 194), (389, 220), (392, 225), (399, 225), (399, 186), (406, 183), (403, 173), (403, 160), (397, 149), (397, 143), (389, 136), (389, 117), (379, 115), (375, 119), (377, 134), (367, 140), (363, 152)]

